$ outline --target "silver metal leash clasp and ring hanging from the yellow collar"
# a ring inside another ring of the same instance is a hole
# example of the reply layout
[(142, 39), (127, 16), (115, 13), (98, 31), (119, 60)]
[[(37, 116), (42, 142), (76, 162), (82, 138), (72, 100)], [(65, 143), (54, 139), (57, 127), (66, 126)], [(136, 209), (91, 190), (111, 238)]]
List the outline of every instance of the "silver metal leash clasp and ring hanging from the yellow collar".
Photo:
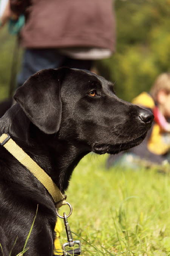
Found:
[[(63, 212), (63, 217), (62, 217), (57, 212), (57, 216), (64, 220), (64, 225), (65, 225), (65, 230), (66, 230), (66, 235), (67, 235), (67, 240), (68, 240), (67, 243), (64, 243), (62, 245), (63, 256), (66, 256), (66, 255), (74, 255), (74, 256), (76, 256), (76, 255), (80, 255), (81, 254), (81, 242), (79, 240), (73, 241), (73, 237), (72, 237), (71, 230), (70, 230), (70, 225), (69, 225), (68, 220), (67, 220), (67, 218), (72, 213), (72, 206), (69, 203), (67, 203), (67, 204), (70, 207), (70, 213), (68, 215), (66, 215), (66, 213)], [(74, 247), (74, 245), (78, 245), (79, 247), (76, 248), (76, 249), (69, 250), (69, 251), (65, 250), (66, 246)]]

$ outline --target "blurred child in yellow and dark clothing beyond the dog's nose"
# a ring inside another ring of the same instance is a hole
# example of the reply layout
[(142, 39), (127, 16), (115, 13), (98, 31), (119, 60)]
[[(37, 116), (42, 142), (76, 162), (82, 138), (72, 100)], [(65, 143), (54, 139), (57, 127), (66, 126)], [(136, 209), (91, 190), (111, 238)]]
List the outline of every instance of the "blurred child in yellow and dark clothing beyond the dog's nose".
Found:
[(170, 73), (159, 75), (150, 93), (142, 92), (132, 103), (153, 112), (153, 126), (141, 145), (117, 156), (110, 156), (108, 167), (123, 164), (136, 168), (142, 161), (145, 164), (147, 162), (147, 166), (170, 163)]

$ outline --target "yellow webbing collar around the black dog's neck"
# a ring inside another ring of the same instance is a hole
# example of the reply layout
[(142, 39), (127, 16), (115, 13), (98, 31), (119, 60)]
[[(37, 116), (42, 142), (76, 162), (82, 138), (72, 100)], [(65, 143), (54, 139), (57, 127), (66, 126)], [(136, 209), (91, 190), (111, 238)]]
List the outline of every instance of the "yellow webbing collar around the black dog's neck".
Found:
[(54, 203), (57, 208), (66, 204), (65, 195), (62, 195), (59, 188), (47, 173), (36, 163), (30, 156), (28, 156), (22, 148), (20, 148), (14, 140), (11, 139), (9, 134), (2, 134), (0, 136), (0, 144), (5, 147), (12, 156), (14, 156), (22, 165), (24, 165), (48, 190), (49, 194), (53, 197)]

